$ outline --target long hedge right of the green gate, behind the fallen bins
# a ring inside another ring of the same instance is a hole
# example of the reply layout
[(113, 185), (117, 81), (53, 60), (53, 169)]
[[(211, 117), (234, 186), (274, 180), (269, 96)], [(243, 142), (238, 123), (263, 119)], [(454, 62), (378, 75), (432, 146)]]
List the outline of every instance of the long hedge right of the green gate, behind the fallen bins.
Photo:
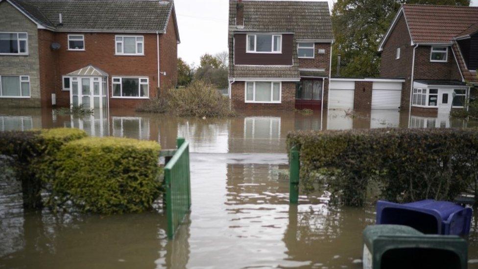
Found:
[(371, 186), (402, 202), (477, 189), (476, 129), (296, 131), (287, 135), (287, 147), (294, 145), (301, 190), (325, 186), (347, 205), (362, 205)]

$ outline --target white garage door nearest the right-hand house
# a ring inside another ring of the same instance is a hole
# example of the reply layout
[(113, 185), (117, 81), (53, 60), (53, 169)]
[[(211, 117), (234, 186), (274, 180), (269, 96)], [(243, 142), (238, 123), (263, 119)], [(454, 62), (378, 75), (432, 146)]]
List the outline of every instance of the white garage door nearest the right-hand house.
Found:
[(401, 82), (374, 82), (372, 109), (398, 109), (402, 98)]

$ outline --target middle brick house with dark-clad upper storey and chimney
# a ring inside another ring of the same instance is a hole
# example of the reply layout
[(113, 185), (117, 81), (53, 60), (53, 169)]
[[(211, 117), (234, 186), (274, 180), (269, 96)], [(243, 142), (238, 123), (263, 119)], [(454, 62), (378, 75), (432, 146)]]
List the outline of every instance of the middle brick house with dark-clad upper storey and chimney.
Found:
[(326, 1), (230, 0), (233, 104), (243, 109), (320, 109), (327, 99), (333, 42)]

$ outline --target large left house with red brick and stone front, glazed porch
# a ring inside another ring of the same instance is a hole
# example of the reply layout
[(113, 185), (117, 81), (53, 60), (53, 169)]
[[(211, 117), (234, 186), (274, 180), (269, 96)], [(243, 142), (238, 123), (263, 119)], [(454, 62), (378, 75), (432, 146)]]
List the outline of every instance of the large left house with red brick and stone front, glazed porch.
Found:
[(168, 0), (0, 0), (0, 106), (135, 107), (177, 81)]

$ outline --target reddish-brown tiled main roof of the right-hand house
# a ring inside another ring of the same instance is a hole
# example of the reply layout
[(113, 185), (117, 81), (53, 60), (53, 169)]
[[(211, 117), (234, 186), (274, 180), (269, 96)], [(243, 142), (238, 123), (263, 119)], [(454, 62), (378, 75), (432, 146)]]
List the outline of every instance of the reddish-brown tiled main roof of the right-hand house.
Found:
[(414, 43), (450, 43), (478, 23), (478, 7), (403, 5)]

